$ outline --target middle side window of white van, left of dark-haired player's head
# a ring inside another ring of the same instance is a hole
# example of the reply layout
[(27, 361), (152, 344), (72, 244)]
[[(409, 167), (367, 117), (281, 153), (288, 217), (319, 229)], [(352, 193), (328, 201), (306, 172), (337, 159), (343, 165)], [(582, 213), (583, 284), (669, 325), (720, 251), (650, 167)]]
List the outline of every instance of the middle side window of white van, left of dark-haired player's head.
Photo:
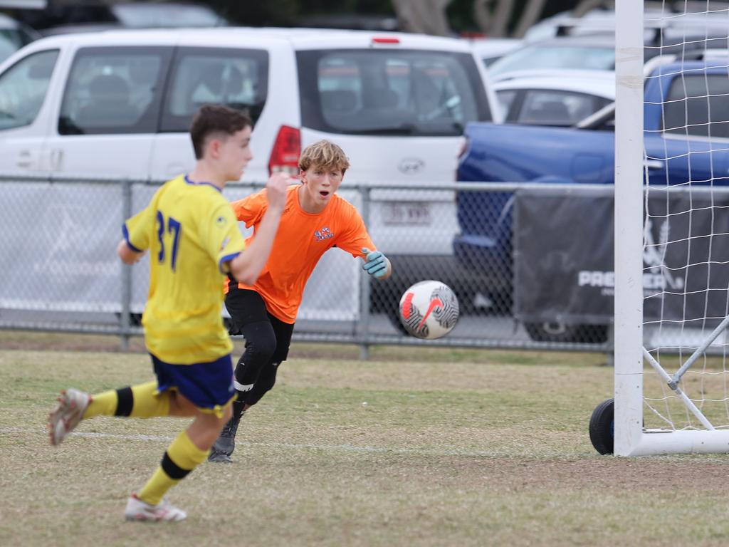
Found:
[(74, 58), (58, 133), (155, 133), (169, 48), (89, 47)]

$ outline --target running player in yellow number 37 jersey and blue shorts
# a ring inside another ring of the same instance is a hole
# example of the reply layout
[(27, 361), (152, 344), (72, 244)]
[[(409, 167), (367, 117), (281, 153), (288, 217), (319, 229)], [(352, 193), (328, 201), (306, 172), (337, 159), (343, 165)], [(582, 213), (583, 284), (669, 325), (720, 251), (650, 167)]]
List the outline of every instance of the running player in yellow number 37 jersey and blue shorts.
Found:
[[(226, 106), (206, 105), (192, 120), (198, 159), (186, 176), (157, 190), (147, 208), (125, 222), (117, 254), (133, 264), (149, 250), (149, 296), (142, 316), (155, 381), (97, 395), (66, 389), (49, 415), (52, 445), (94, 416), (191, 416), (147, 484), (128, 500), (129, 520), (179, 521), (187, 515), (165, 492), (204, 462), (235, 397), (233, 363), (222, 324), (223, 280), (254, 283), (268, 260), (286, 201), (289, 176), (271, 176), (268, 209), (246, 243), (222, 188), (251, 160), (252, 123)], [(245, 250), (243, 250), (245, 249)]]

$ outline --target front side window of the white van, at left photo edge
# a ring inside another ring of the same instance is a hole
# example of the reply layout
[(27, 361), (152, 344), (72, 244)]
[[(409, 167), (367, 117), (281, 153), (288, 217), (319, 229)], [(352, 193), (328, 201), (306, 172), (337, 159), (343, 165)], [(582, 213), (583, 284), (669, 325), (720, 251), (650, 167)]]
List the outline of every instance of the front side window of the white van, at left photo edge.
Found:
[(57, 58), (58, 50), (33, 53), (0, 75), (0, 130), (33, 123)]

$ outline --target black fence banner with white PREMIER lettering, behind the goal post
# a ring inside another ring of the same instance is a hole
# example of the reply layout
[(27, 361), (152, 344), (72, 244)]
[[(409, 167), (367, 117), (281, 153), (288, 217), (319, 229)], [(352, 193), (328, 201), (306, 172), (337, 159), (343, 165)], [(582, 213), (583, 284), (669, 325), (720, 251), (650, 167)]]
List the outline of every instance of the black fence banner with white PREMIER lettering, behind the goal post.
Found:
[[(644, 319), (714, 325), (729, 313), (729, 196), (651, 189), (644, 223)], [(520, 190), (514, 204), (515, 317), (612, 319), (612, 188)]]

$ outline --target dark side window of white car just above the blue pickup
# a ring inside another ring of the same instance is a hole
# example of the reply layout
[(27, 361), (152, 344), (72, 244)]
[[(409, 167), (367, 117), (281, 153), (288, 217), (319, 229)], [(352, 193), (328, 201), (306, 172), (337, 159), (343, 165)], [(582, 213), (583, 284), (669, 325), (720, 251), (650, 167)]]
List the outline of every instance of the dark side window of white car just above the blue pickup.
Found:
[(521, 109), (513, 121), (536, 125), (574, 125), (605, 104), (607, 99), (586, 93), (531, 89), (526, 90)]

